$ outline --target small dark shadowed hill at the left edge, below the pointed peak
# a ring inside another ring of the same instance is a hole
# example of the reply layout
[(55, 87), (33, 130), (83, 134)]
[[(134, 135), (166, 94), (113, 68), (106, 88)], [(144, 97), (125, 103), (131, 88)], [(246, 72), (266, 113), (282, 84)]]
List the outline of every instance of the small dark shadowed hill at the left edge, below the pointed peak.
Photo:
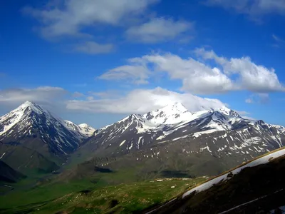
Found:
[(9, 165), (4, 163), (3, 161), (0, 161), (0, 172), (1, 172), (0, 182), (4, 182), (4, 183), (6, 182), (16, 183), (17, 181), (26, 177), (25, 175), (11, 168)]

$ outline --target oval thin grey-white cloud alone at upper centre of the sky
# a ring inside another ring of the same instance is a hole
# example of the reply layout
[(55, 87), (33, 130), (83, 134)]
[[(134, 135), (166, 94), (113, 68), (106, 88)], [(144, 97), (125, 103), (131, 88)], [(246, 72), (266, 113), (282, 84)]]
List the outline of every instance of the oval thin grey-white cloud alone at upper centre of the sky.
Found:
[[(184, 39), (185, 33), (193, 30), (193, 24), (188, 21), (175, 21), (173, 19), (154, 18), (141, 24), (132, 26), (126, 34), (133, 41), (142, 41), (143, 43), (156, 43), (170, 41), (181, 37)], [(184, 36), (184, 37), (183, 37)], [(189, 37), (189, 34), (187, 34)]]

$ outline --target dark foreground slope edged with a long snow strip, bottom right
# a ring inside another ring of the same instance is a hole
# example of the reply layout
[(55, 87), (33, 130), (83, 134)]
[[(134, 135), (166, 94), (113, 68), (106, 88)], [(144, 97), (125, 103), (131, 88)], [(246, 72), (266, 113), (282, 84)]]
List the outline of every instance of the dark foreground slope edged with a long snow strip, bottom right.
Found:
[[(151, 213), (284, 213), (285, 149), (229, 170)], [(146, 212), (145, 212), (146, 213)]]

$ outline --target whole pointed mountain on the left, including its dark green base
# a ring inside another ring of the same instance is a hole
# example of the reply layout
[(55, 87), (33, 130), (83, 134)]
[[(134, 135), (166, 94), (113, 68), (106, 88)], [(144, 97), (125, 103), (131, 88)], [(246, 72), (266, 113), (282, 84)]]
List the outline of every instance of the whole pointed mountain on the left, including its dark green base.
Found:
[(55, 170), (93, 131), (88, 125), (63, 121), (26, 101), (0, 118), (1, 160), (19, 170)]

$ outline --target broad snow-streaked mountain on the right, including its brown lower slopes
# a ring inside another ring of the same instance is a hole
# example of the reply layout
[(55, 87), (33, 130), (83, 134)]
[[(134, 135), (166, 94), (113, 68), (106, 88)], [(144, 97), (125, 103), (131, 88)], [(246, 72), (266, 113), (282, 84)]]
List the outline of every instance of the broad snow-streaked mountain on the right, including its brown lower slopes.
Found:
[(139, 178), (185, 172), (191, 177), (217, 175), (281, 148), (284, 141), (283, 127), (242, 118), (226, 107), (191, 113), (172, 103), (101, 128), (75, 154), (81, 161), (90, 160), (78, 173), (88, 174), (97, 165), (138, 168)]

